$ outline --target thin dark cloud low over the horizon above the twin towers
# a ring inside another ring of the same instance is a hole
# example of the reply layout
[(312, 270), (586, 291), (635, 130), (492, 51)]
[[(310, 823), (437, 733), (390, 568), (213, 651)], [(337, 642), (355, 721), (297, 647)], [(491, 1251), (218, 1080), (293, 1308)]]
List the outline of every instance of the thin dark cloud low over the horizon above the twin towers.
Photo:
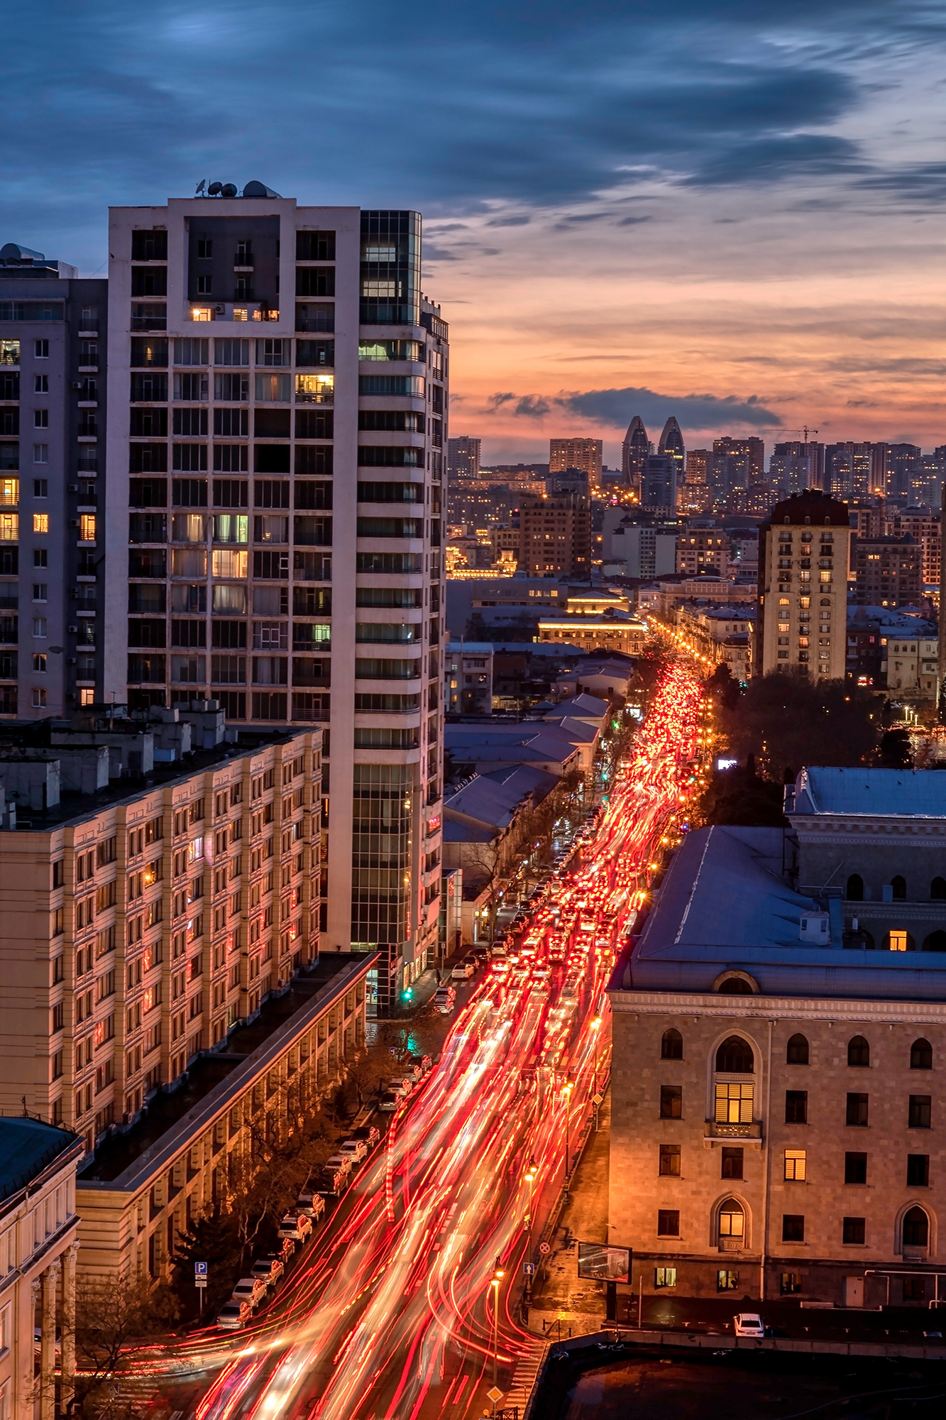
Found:
[(670, 415), (690, 429), (737, 427), (778, 429), (781, 415), (767, 409), (756, 395), (659, 395), (653, 389), (626, 386), (625, 389), (589, 389), (584, 393), (560, 395), (544, 399), (540, 395), (514, 395), (509, 390), (491, 395), (491, 410), (509, 409), (530, 419), (543, 417), (553, 409), (589, 419), (599, 427), (626, 429), (635, 415), (645, 425), (662, 426)]

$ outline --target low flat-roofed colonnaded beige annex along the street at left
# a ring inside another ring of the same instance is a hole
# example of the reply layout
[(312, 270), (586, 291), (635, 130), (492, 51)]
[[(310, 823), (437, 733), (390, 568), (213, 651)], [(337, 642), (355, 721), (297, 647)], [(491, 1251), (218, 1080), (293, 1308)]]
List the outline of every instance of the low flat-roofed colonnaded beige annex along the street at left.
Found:
[(205, 1055), (82, 1167), (77, 1198), (84, 1274), (161, 1278), (192, 1218), (227, 1206), (257, 1167), (256, 1140), (286, 1139), (365, 1042), (378, 953), (330, 953), (263, 1004), (224, 1051)]

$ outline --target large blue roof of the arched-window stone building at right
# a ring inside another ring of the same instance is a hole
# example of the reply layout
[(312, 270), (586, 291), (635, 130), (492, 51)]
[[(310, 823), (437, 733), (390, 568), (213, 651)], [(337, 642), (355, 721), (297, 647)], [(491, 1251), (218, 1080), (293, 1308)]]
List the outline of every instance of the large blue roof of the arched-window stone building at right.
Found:
[(801, 940), (803, 913), (822, 909), (783, 875), (785, 832), (687, 834), (612, 990), (709, 994), (724, 973), (746, 971), (763, 995), (946, 1001), (946, 953)]

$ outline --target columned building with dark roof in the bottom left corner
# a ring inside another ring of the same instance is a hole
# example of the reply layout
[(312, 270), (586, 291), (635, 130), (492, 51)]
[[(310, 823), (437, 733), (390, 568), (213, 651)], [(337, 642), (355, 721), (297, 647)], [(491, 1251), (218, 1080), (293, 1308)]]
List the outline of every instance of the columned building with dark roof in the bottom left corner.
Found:
[[(53, 1420), (75, 1375), (75, 1135), (0, 1119), (0, 1414)], [(57, 1355), (58, 1332), (58, 1355)]]

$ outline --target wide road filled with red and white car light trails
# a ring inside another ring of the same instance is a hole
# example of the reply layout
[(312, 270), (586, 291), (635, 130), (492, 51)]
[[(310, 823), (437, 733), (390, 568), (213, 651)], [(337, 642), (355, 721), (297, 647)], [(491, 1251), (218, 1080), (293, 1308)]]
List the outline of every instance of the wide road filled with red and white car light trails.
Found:
[(277, 1301), (247, 1331), (142, 1358), (206, 1375), (196, 1420), (469, 1420), (489, 1407), (494, 1335), (500, 1389), (534, 1350), (523, 1264), (608, 1069), (605, 985), (685, 808), (697, 713), (699, 687), (670, 665), (581, 866), (534, 900), (517, 960), (486, 968)]

